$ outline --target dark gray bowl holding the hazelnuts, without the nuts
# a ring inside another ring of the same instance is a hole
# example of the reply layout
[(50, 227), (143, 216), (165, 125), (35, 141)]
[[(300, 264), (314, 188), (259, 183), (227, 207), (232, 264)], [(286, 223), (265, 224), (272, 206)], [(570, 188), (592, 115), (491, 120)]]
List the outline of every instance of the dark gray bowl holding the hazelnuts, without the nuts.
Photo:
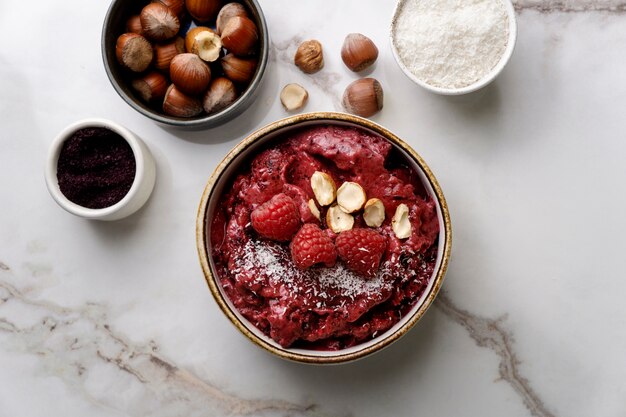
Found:
[[(269, 35), (267, 31), (267, 23), (261, 6), (256, 0), (238, 0), (249, 11), (251, 19), (256, 23), (259, 29), (259, 64), (252, 81), (245, 91), (241, 93), (237, 101), (224, 110), (210, 115), (201, 114), (191, 118), (181, 118), (169, 116), (160, 109), (151, 107), (144, 103), (130, 87), (131, 76), (117, 62), (115, 58), (115, 43), (117, 37), (125, 32), (126, 20), (133, 14), (141, 11), (141, 8), (148, 4), (149, 0), (136, 2), (134, 0), (113, 0), (107, 11), (102, 25), (102, 60), (104, 61), (104, 69), (115, 88), (115, 91), (128, 103), (133, 109), (150, 119), (169, 126), (178, 126), (185, 128), (211, 128), (239, 116), (254, 101), (258, 87), (265, 73), (269, 55)], [(225, 2), (226, 3), (226, 2)], [(186, 32), (186, 27), (181, 24), (181, 32)]]

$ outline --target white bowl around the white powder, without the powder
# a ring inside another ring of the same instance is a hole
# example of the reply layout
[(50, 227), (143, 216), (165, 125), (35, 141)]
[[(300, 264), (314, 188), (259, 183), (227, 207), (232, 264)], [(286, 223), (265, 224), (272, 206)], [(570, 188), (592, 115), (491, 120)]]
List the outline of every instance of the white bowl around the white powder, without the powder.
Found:
[(502, 3), (504, 4), (504, 8), (506, 9), (506, 13), (509, 18), (509, 39), (506, 45), (506, 49), (504, 50), (504, 53), (500, 57), (500, 61), (498, 61), (496, 66), (493, 67), (491, 71), (489, 71), (484, 77), (482, 77), (475, 83), (470, 84), (466, 87), (442, 88), (442, 87), (435, 87), (430, 84), (427, 84), (423, 80), (420, 80), (418, 77), (416, 77), (415, 74), (413, 74), (406, 67), (406, 65), (402, 63), (400, 59), (400, 54), (394, 42), (394, 26), (396, 24), (398, 14), (400, 13), (401, 8), (404, 5), (404, 3), (406, 3), (406, 1), (407, 0), (399, 0), (398, 3), (396, 3), (396, 7), (393, 11), (393, 18), (391, 19), (391, 28), (389, 32), (389, 38), (391, 40), (391, 51), (393, 53), (393, 57), (395, 58), (398, 66), (400, 67), (400, 69), (402, 69), (402, 72), (404, 72), (404, 74), (407, 77), (409, 77), (414, 83), (425, 88), (426, 90), (436, 93), (436, 94), (447, 95), (447, 96), (458, 96), (462, 94), (473, 93), (474, 91), (477, 91), (483, 87), (486, 87), (493, 80), (495, 80), (496, 77), (502, 72), (506, 64), (509, 62), (511, 55), (513, 55), (513, 50), (515, 49), (515, 42), (517, 41), (517, 21), (515, 19), (515, 8), (513, 7), (513, 3), (511, 3), (511, 0), (501, 0)]

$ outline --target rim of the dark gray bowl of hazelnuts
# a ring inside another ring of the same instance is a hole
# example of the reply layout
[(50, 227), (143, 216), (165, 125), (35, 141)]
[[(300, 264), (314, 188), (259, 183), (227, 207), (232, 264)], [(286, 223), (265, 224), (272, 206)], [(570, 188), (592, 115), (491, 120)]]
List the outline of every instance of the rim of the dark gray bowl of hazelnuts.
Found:
[[(245, 111), (253, 101), (253, 96), (256, 90), (259, 88), (261, 81), (263, 79), (263, 75), (265, 74), (265, 70), (269, 64), (269, 50), (270, 50), (270, 37), (269, 30), (267, 27), (267, 21), (265, 19), (265, 14), (263, 13), (263, 9), (257, 0), (245, 0), (245, 2), (249, 2), (251, 7), (255, 9), (256, 14), (258, 15), (259, 24), (258, 29), (260, 32), (260, 38), (262, 39), (262, 45), (264, 48), (260, 48), (258, 66), (254, 77), (250, 80), (248, 87), (243, 91), (243, 93), (232, 103), (230, 106), (220, 110), (217, 113), (213, 114), (205, 114), (203, 117), (199, 118), (179, 118), (174, 116), (168, 116), (164, 113), (159, 113), (156, 110), (148, 109), (144, 106), (140, 106), (137, 101), (131, 97), (129, 94), (124, 91), (124, 88), (117, 81), (115, 76), (113, 75), (113, 70), (111, 69), (111, 63), (107, 60), (107, 48), (115, 48), (114, 45), (109, 45), (107, 42), (107, 31), (111, 26), (111, 19), (113, 10), (118, 6), (118, 3), (124, 0), (113, 0), (109, 5), (106, 15), (104, 17), (104, 22), (102, 24), (102, 32), (100, 35), (100, 53), (102, 55), (102, 62), (104, 66), (104, 70), (107, 74), (107, 78), (109, 79), (111, 85), (115, 92), (127, 103), (130, 107), (132, 107), (135, 111), (141, 113), (142, 115), (148, 117), (149, 119), (154, 120), (155, 122), (162, 123), (164, 125), (175, 126), (175, 127), (183, 127), (183, 128), (210, 128), (216, 127), (221, 124), (224, 124), (231, 120), (234, 117), (243, 111)], [(147, 4), (147, 3), (146, 3)]]

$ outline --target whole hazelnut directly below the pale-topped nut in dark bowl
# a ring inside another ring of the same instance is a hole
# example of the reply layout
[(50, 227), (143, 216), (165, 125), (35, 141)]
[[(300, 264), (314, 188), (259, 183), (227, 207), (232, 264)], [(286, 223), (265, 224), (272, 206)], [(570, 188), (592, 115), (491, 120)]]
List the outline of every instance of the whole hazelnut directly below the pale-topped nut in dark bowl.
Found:
[(211, 70), (196, 54), (178, 54), (170, 64), (170, 78), (183, 93), (197, 95), (209, 86)]

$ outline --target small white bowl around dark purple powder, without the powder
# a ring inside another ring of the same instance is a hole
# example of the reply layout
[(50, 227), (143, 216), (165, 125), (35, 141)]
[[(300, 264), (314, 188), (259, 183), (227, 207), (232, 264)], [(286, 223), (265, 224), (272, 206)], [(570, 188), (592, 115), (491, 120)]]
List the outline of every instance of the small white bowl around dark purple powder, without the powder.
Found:
[[(135, 179), (130, 190), (128, 190), (124, 198), (114, 205), (101, 209), (83, 207), (68, 200), (61, 192), (57, 179), (57, 163), (63, 143), (76, 131), (88, 127), (103, 127), (119, 134), (128, 142), (135, 155)], [(80, 120), (69, 125), (52, 141), (48, 152), (48, 160), (46, 161), (45, 177), (50, 195), (68, 212), (85, 219), (119, 220), (139, 210), (148, 200), (154, 188), (156, 167), (150, 149), (137, 135), (110, 120), (92, 118)]]

